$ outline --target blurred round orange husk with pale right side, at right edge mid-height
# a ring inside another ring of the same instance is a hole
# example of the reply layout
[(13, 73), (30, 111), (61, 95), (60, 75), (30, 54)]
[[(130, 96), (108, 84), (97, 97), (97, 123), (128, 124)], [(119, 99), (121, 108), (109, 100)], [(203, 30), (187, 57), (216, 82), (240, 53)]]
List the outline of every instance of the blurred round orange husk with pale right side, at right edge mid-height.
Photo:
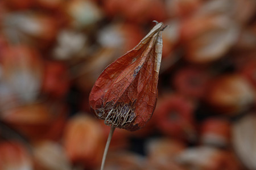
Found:
[(230, 116), (246, 111), (254, 99), (253, 87), (239, 74), (226, 74), (214, 79), (205, 95), (214, 111)]

